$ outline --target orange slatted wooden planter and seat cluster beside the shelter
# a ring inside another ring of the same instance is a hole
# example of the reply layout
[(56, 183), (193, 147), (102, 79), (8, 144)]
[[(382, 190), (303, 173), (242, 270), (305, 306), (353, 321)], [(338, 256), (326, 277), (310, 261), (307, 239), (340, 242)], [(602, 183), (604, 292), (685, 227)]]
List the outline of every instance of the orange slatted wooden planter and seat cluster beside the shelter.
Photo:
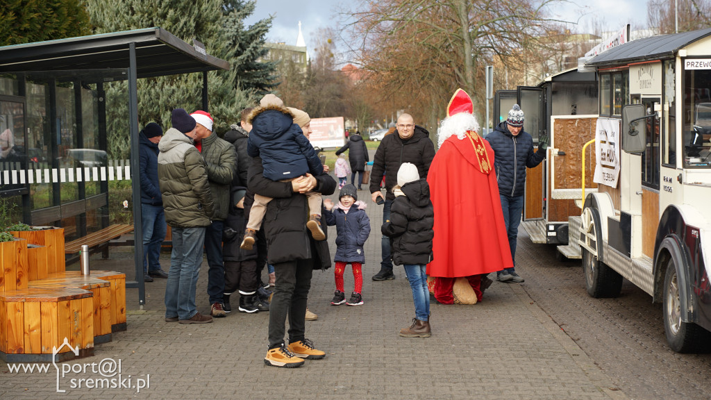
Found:
[[(125, 230), (132, 226), (113, 234)], [(126, 275), (65, 271), (62, 233), (62, 229), (20, 232), (25, 238), (0, 243), (0, 359), (4, 362), (92, 356), (96, 343), (108, 342), (114, 332), (127, 329)], [(58, 349), (55, 357), (53, 347)]]

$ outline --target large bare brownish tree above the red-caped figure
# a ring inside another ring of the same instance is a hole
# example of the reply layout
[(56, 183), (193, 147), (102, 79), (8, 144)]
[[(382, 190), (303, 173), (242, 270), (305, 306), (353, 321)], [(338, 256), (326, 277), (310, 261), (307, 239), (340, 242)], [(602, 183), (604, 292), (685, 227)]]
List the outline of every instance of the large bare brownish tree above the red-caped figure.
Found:
[(555, 1), (361, 1), (343, 14), (344, 36), (382, 95), (434, 125), (457, 87), (483, 110), (485, 65), (525, 73), (527, 56), (552, 45), (540, 38), (555, 30), (546, 16)]

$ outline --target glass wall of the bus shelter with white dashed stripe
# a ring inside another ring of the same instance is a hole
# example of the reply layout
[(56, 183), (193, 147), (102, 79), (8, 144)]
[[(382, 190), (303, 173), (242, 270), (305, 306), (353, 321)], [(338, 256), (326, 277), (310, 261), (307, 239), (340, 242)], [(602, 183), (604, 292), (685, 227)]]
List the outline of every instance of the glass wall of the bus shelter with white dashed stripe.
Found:
[(26, 98), (26, 167), (14, 173), (29, 194), (28, 222), (63, 226), (66, 241), (133, 223), (126, 77), (125, 69), (0, 77), (0, 94)]

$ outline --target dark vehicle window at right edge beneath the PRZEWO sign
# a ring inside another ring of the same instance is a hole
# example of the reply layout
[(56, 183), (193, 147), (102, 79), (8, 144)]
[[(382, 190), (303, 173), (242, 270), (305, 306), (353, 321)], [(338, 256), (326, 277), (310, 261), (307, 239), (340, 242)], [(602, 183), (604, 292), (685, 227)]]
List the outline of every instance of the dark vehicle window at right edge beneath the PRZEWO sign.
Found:
[(685, 70), (684, 167), (711, 167), (711, 70)]

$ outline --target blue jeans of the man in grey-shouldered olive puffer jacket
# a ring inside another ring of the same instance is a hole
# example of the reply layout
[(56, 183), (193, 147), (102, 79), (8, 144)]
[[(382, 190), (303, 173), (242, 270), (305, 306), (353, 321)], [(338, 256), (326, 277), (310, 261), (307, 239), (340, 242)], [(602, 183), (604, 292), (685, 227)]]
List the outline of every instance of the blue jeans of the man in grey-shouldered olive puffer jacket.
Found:
[(171, 269), (166, 283), (166, 317), (189, 320), (198, 312), (195, 305), (200, 265), (203, 263), (205, 227), (173, 228)]

